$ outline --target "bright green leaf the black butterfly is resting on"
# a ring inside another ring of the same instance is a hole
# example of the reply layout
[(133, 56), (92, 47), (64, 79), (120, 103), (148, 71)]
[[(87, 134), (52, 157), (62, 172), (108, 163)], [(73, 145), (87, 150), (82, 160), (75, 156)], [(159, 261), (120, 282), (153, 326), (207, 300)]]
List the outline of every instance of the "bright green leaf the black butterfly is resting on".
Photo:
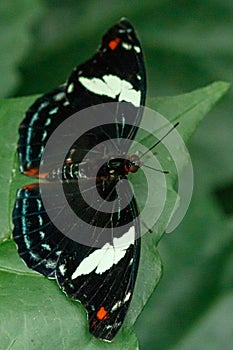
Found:
[[(187, 141), (205, 113), (226, 90), (227, 84), (220, 82), (189, 94), (156, 99), (151, 103), (153, 107), (156, 106), (160, 113), (171, 118), (172, 121), (179, 120), (181, 122), (182, 128), (180, 130)], [(6, 100), (0, 104), (1, 137), (5, 145), (4, 149), (0, 150), (0, 160), (3, 165), (0, 175), (2, 198), (0, 209), (3, 218), (1, 234), (3, 238), (8, 237), (10, 233), (8, 220), (12, 210), (11, 196), (13, 196), (16, 187), (25, 181), (28, 182), (28, 179), (26, 180), (17, 172), (14, 172), (12, 176), (12, 168), (14, 170), (17, 125), (23, 118), (23, 112), (34, 98)], [(145, 138), (144, 142), (148, 142), (148, 139)], [(161, 148), (161, 154), (159, 154), (161, 158), (163, 158), (163, 152), (164, 150)], [(135, 176), (134, 180), (139, 194), (143, 192), (143, 189), (146, 190), (144, 184), (141, 183), (140, 176), (142, 175), (139, 174), (138, 178)], [(137, 340), (131, 327), (161, 277), (161, 261), (156, 247), (176, 200), (172, 183), (173, 181), (168, 181), (167, 203), (161, 219), (154, 227), (155, 232), (148, 233), (142, 238), (141, 262), (133, 300), (126, 322), (111, 344), (91, 337), (82, 306), (78, 302), (69, 300), (59, 290), (55, 282), (25, 268), (17, 257), (14, 244), (10, 240), (2, 241), (0, 244), (0, 293), (2, 297), (0, 322), (3, 322), (1, 339), (4, 339), (4, 347), (14, 345), (15, 349), (22, 347), (30, 349), (33, 344), (35, 349), (55, 347), (63, 349), (75, 346), (83, 349), (98, 349), (105, 346), (110, 346), (113, 349), (136, 349)], [(159, 195), (157, 201), (160, 201)], [(139, 205), (141, 204), (139, 198)], [(64, 312), (64, 310), (66, 311)]]

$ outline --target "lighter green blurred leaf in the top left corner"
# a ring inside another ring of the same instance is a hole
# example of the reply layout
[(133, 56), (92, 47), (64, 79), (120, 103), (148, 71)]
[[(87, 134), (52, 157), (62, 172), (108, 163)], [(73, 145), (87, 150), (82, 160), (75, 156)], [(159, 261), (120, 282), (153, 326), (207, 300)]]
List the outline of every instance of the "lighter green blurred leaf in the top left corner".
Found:
[(0, 96), (12, 93), (20, 82), (18, 65), (33, 41), (32, 25), (42, 14), (42, 3), (35, 0), (0, 3)]

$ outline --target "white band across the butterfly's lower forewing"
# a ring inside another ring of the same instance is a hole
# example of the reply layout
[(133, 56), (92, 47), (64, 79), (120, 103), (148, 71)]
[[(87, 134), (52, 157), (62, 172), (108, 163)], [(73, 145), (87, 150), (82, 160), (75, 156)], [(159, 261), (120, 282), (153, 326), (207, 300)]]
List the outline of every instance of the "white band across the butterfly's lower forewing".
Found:
[(88, 255), (74, 271), (71, 279), (88, 275), (94, 270), (98, 274), (109, 270), (125, 256), (129, 246), (134, 244), (134, 238), (135, 230), (134, 226), (131, 226), (122, 237), (113, 239), (113, 245), (106, 243), (102, 248)]

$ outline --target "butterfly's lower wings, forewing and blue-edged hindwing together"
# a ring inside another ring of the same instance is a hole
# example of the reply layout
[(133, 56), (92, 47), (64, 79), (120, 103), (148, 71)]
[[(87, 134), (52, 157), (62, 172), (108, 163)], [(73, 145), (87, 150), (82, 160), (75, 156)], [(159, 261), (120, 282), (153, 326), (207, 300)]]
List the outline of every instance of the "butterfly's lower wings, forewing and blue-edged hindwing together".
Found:
[[(102, 247), (90, 247), (67, 238), (50, 221), (40, 193), (47, 186), (29, 185), (18, 192), (13, 212), (13, 237), (19, 255), (30, 268), (56, 278), (69, 297), (82, 302), (93, 335), (112, 340), (124, 321), (136, 281), (140, 256), (140, 240), (135, 240), (140, 234), (136, 202), (132, 198), (120, 211), (120, 218), (117, 210), (106, 214), (103, 220), (100, 210), (92, 209), (90, 213), (77, 186), (69, 183), (71, 188), (70, 191), (66, 188), (66, 194), (68, 199), (71, 191), (74, 194), (72, 205), (77, 215), (89, 221), (90, 217), (95, 218), (95, 223), (108, 228), (113, 224), (117, 226), (119, 221), (124, 225), (118, 238)], [(50, 188), (46, 193), (53, 195)], [(54, 202), (49, 214), (65, 215), (65, 209)], [(105, 227), (102, 228), (103, 237)], [(82, 227), (77, 229), (77, 239), (80, 230)]]

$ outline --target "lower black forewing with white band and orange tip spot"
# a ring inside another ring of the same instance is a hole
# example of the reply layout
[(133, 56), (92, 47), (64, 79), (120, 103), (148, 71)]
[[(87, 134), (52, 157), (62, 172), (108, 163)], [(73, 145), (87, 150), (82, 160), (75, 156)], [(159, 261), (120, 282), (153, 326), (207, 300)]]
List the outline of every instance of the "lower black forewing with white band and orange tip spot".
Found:
[[(123, 202), (123, 196), (132, 193), (129, 184), (120, 182), (118, 186), (123, 186), (120, 190)], [(70, 241), (60, 255), (57, 280), (69, 297), (81, 301), (86, 307), (90, 332), (98, 338), (112, 340), (125, 319), (136, 282), (140, 256), (140, 239), (136, 239), (140, 235), (136, 201), (133, 197), (131, 200), (127, 198), (129, 204), (123, 209), (120, 203), (115, 204), (112, 214), (101, 212), (101, 207), (97, 211), (86, 207), (83, 215), (80, 214), (84, 209), (81, 194), (73, 188), (72, 192), (80, 206), (72, 203), (71, 207), (76, 208), (79, 217), (89, 223), (92, 220), (93, 226), (102, 226), (103, 243), (99, 239), (99, 247), (88, 247)], [(118, 225), (121, 226), (116, 233)], [(111, 240), (105, 232), (110, 228)], [(99, 238), (98, 231), (92, 238), (94, 241)]]

